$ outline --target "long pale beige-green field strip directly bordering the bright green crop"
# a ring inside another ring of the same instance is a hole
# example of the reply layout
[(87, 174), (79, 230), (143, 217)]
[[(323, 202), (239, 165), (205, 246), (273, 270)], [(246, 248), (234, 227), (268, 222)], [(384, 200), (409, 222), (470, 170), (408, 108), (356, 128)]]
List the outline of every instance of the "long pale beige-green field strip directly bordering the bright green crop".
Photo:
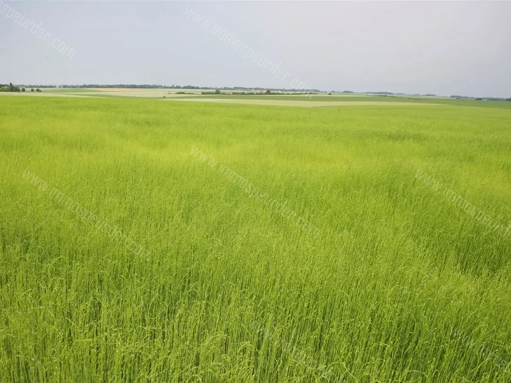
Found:
[[(403, 106), (403, 105), (440, 105), (430, 103), (407, 103), (390, 101), (284, 101), (284, 100), (241, 100), (241, 99), (168, 99), (171, 101), (192, 101), (192, 102), (211, 102), (227, 104), (255, 104), (255, 105), (274, 105), (274, 106), (301, 106), (301, 107), (319, 107), (319, 106)], [(163, 101), (163, 100), (162, 100)], [(167, 100), (165, 100), (167, 101)]]

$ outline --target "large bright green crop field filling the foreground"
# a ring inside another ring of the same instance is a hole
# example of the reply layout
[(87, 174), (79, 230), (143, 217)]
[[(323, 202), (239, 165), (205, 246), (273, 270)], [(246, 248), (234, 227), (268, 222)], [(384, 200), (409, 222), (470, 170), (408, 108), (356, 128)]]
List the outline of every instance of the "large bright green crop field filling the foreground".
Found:
[(472, 104), (0, 97), (0, 381), (511, 381)]

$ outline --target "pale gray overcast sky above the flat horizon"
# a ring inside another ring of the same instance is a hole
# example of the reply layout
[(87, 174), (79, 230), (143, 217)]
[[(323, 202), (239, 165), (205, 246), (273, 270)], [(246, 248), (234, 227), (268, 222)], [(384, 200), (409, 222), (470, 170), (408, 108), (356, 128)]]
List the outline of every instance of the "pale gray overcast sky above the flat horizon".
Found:
[[(187, 7), (204, 19), (194, 22)], [(511, 97), (511, 2), (0, 0), (0, 12), (0, 83), (295, 81), (321, 90)], [(40, 38), (21, 17), (44, 29)], [(215, 25), (238, 47), (215, 36)], [(244, 58), (243, 45), (288, 76)], [(76, 51), (73, 58), (59, 46)]]

